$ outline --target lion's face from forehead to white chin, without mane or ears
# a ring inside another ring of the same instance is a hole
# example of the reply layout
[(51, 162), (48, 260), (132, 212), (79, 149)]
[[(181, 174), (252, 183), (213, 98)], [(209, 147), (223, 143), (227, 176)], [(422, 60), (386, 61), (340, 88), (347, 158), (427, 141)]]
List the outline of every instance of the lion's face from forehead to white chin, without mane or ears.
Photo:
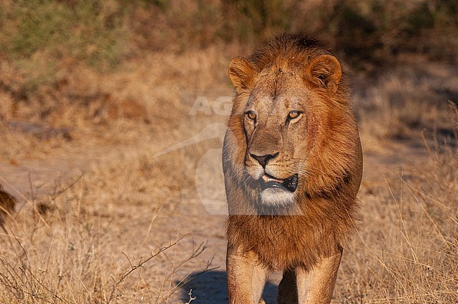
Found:
[(245, 168), (259, 183), (261, 203), (286, 205), (306, 174), (309, 96), (290, 70), (266, 70), (257, 78), (244, 110)]

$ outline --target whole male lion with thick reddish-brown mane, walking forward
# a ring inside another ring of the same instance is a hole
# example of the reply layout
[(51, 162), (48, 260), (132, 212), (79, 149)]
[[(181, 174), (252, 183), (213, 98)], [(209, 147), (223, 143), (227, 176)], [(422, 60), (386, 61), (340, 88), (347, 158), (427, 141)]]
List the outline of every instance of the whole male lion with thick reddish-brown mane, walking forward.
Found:
[(362, 153), (337, 58), (314, 39), (282, 34), (233, 58), (233, 110), (223, 147), (230, 303), (330, 303), (342, 246), (354, 230)]

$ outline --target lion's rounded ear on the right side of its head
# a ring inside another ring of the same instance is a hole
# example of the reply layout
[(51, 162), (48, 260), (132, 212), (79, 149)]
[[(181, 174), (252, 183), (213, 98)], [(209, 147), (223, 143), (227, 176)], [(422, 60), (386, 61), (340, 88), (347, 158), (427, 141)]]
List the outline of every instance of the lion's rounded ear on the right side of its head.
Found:
[(342, 66), (334, 56), (320, 55), (307, 67), (307, 79), (316, 87), (337, 91), (341, 78)]

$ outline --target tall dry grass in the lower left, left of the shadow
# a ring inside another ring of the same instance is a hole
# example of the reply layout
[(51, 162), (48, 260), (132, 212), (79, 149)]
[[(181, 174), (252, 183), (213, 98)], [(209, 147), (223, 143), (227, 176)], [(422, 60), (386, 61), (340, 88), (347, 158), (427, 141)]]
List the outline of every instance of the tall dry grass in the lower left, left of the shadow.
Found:
[(47, 195), (18, 198), (24, 203), (0, 234), (0, 302), (163, 303), (177, 291), (186, 277), (175, 272), (205, 246), (182, 248), (179, 234), (156, 243), (155, 219), (179, 191), (154, 179), (155, 161), (145, 153), (111, 158), (45, 185)]

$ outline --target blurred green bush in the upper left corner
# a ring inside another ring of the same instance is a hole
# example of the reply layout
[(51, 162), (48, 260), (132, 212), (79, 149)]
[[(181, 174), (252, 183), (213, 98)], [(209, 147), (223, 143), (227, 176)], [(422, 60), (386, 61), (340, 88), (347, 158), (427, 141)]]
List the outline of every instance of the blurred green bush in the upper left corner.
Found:
[(0, 53), (23, 76), (23, 91), (54, 82), (66, 58), (110, 70), (125, 53), (128, 12), (116, 1), (4, 1)]

